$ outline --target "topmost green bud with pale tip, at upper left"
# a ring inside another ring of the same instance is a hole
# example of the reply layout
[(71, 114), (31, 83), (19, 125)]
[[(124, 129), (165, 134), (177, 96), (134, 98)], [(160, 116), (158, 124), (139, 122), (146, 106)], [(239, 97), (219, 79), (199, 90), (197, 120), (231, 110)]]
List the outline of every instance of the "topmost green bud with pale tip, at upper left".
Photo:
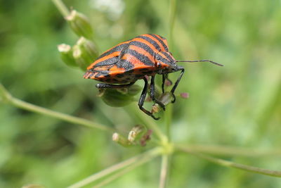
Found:
[(93, 30), (89, 22), (89, 19), (86, 17), (86, 15), (79, 13), (75, 10), (72, 10), (70, 15), (67, 15), (65, 19), (70, 24), (72, 30), (78, 36), (83, 36), (88, 39), (91, 39), (93, 37)]

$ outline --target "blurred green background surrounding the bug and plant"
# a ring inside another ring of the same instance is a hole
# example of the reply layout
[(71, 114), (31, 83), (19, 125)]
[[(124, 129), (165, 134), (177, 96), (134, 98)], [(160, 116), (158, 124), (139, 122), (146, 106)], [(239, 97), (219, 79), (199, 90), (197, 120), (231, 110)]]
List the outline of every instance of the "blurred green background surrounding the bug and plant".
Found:
[[(178, 1), (171, 37), (167, 0), (64, 2), (89, 16), (100, 52), (156, 33), (168, 39), (176, 59), (225, 65), (181, 63), (186, 73), (177, 92), (190, 98), (173, 105), (175, 142), (280, 149), (281, 1)], [(96, 97), (96, 82), (60, 60), (57, 45), (78, 37), (51, 1), (1, 0), (0, 25), (0, 81), (13, 96), (124, 132), (140, 123), (127, 113), (140, 113), (137, 104), (106, 106)], [(105, 132), (0, 104), (0, 187), (66, 187), (147, 148), (124, 149)], [(226, 159), (281, 169), (275, 156)], [(108, 187), (157, 187), (158, 178), (159, 158)], [(169, 187), (281, 187), (281, 180), (177, 154)]]

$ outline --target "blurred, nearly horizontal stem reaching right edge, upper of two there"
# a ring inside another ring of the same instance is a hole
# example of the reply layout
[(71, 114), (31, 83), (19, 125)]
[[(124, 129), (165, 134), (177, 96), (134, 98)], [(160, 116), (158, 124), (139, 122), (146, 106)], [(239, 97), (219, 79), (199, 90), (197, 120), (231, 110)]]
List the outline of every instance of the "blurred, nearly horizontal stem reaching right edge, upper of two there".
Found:
[(190, 149), (200, 153), (210, 153), (224, 156), (247, 156), (247, 157), (260, 157), (260, 156), (281, 156), (280, 149), (246, 149), (233, 146), (205, 146), (200, 144), (176, 144), (182, 149)]

